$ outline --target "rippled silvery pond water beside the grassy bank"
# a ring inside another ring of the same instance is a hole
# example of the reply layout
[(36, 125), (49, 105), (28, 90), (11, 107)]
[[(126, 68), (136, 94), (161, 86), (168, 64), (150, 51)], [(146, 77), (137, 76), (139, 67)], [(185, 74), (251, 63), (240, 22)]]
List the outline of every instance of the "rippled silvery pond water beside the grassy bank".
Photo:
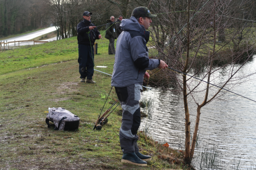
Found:
[[(256, 59), (247, 63), (241, 72), (256, 69)], [(215, 76), (215, 83), (225, 77)], [(244, 95), (256, 101), (256, 76), (247, 82), (231, 89), (233, 92)], [(201, 95), (202, 96), (202, 95)], [(185, 140), (185, 112), (182, 94), (175, 89), (162, 90), (153, 88), (143, 93), (142, 98), (154, 99), (154, 109), (151, 119), (144, 118), (141, 129), (148, 128), (155, 140), (170, 147), (184, 149)], [(202, 98), (202, 97), (201, 97)], [(200, 95), (196, 96), (199, 103)], [(222, 166), (228, 168), (233, 161), (240, 161), (241, 168), (250, 169), (256, 164), (256, 103), (232, 93), (225, 93), (218, 100), (214, 100), (201, 109), (199, 124), (199, 145), (195, 154), (204, 147), (205, 142), (217, 143), (221, 153)], [(191, 135), (194, 132), (197, 106), (193, 99), (189, 101)]]

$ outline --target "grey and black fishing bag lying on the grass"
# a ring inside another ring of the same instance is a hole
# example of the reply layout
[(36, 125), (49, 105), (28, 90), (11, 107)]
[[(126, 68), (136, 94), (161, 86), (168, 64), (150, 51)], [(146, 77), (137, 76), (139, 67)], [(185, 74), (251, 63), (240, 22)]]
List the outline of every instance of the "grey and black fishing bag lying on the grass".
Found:
[(46, 116), (48, 128), (52, 126), (49, 124), (49, 121), (51, 121), (54, 123), (55, 130), (76, 130), (79, 127), (79, 120), (80, 118), (77, 115), (64, 108), (48, 108)]

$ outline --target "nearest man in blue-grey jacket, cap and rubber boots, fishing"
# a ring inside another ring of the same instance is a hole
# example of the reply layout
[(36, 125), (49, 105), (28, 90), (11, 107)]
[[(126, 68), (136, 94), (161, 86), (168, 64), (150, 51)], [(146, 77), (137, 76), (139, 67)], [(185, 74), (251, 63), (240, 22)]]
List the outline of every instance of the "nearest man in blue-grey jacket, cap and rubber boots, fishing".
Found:
[(150, 10), (135, 8), (130, 19), (123, 19), (120, 27), (123, 32), (116, 44), (116, 55), (111, 86), (115, 87), (122, 107), (122, 125), (119, 131), (121, 162), (146, 166), (150, 156), (139, 153), (137, 131), (140, 126), (140, 92), (143, 77), (149, 78), (147, 69), (166, 68), (168, 65), (158, 59), (148, 58), (146, 43), (150, 32), (146, 31), (152, 22)]

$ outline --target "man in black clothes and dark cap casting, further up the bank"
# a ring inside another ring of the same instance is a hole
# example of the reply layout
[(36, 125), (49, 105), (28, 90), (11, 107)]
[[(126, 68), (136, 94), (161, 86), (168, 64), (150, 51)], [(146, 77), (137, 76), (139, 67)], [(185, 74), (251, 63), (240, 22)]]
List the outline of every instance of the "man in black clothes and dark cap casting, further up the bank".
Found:
[[(101, 35), (95, 25), (91, 23), (93, 13), (85, 11), (83, 21), (77, 25), (78, 63), (81, 82), (96, 83), (93, 81), (94, 72), (94, 42)], [(87, 77), (87, 80), (86, 80)]]

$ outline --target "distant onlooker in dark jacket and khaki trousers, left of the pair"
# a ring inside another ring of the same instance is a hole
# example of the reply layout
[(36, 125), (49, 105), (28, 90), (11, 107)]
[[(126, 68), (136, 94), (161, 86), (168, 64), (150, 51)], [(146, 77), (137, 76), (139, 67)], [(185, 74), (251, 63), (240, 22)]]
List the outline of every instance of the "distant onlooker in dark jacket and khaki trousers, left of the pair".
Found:
[(116, 54), (115, 50), (115, 39), (116, 39), (116, 25), (114, 23), (115, 17), (111, 16), (110, 19), (107, 19), (106, 22), (106, 35), (105, 38), (110, 40), (109, 43), (109, 55)]

